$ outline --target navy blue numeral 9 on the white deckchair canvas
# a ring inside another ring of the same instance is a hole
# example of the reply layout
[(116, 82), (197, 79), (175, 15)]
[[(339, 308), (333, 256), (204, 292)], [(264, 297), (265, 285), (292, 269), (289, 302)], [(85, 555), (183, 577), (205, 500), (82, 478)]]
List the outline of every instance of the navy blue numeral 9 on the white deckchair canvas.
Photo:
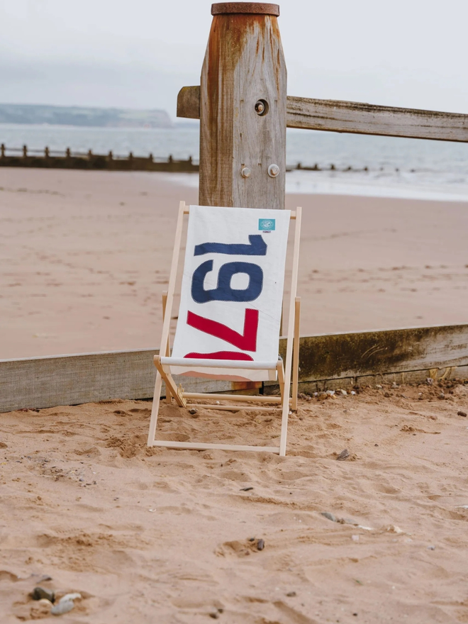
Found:
[[(252, 264), (252, 262), (227, 262), (219, 269), (218, 287), (205, 290), (204, 280), (206, 274), (210, 271), (213, 271), (213, 260), (202, 262), (194, 271), (191, 279), (191, 296), (196, 303), (206, 303), (207, 301), (254, 301), (262, 292), (263, 271), (258, 264)], [(234, 289), (230, 287), (230, 280), (236, 273), (245, 273), (249, 276), (247, 288)]]

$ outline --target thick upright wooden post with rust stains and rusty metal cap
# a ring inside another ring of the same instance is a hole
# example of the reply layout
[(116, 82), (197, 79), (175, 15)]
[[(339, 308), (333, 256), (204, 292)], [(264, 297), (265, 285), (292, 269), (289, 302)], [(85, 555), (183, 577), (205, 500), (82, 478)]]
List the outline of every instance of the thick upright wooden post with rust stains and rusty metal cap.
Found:
[(284, 208), (286, 65), (277, 4), (223, 2), (201, 71), (202, 206)]

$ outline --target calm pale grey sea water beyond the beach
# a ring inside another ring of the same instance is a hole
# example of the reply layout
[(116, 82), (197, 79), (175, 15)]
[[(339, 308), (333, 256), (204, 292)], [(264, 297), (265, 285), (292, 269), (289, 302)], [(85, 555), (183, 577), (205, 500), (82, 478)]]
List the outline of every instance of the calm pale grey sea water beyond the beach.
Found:
[[(7, 147), (175, 159), (198, 160), (199, 128), (76, 128), (0, 124), (0, 143)], [(286, 160), (295, 167), (320, 167), (321, 171), (291, 171), (286, 192), (355, 194), (468, 201), (468, 143), (445, 143), (391, 137), (374, 137), (311, 130), (288, 130)], [(331, 165), (335, 171), (330, 170)], [(351, 171), (344, 171), (352, 167)], [(368, 171), (362, 169), (367, 167)], [(195, 186), (193, 174), (171, 176)]]

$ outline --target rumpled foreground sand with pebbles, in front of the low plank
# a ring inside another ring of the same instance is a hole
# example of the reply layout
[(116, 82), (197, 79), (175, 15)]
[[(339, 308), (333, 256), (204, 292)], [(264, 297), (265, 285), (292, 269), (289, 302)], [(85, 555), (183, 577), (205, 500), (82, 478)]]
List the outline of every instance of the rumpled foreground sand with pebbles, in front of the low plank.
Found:
[[(70, 624), (467, 622), (468, 386), (444, 386), (301, 400), (286, 457), (148, 449), (149, 401), (2, 415), (1, 622), (45, 618), (37, 585), (82, 595)], [(279, 435), (244, 409), (160, 421)]]

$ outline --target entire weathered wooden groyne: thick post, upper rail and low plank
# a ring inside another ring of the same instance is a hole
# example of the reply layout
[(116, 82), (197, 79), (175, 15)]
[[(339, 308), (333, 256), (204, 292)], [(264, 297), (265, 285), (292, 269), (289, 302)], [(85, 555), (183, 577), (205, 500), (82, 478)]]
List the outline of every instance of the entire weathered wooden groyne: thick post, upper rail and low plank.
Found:
[[(184, 87), (177, 100), (178, 116), (201, 120), (201, 204), (282, 208), (286, 126), (468, 143), (468, 115), (286, 96), (279, 7), (230, 2), (212, 13), (201, 86)], [(0, 360), (0, 412), (150, 397), (155, 352)], [(468, 379), (468, 324), (303, 336), (299, 364), (299, 389), (309, 392)], [(178, 381), (194, 392), (236, 389)]]

